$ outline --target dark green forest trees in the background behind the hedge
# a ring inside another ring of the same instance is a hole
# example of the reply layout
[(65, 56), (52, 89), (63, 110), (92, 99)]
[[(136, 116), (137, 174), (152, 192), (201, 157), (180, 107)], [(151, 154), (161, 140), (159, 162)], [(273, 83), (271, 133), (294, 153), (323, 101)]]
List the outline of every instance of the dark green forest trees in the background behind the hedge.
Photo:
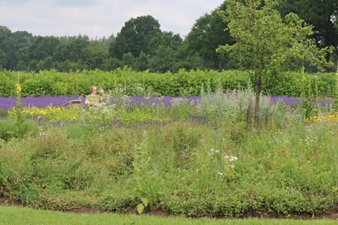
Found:
[[(294, 12), (313, 26), (313, 40), (322, 48), (338, 46), (338, 6), (336, 0), (283, 1), (280, 13)], [(70, 70), (115, 70), (127, 65), (135, 71), (177, 72), (187, 70), (229, 70), (236, 63), (215, 49), (232, 44), (227, 24), (218, 11), (197, 18), (187, 37), (161, 30), (158, 20), (151, 15), (131, 18), (120, 32), (111, 37), (89, 39), (77, 37), (41, 37), (26, 31), (11, 32), (0, 26), (0, 69), (38, 71), (51, 68), (60, 72)], [(327, 60), (337, 62), (336, 53)], [(333, 68), (332, 70), (334, 70)], [(311, 72), (311, 68), (307, 68)], [(312, 68), (313, 70), (313, 68)]]

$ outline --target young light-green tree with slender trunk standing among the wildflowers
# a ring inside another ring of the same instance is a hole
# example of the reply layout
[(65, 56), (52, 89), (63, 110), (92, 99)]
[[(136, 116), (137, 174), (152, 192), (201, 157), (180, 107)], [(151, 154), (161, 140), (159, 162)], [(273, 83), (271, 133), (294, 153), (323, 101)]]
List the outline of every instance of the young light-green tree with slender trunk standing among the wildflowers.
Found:
[(326, 65), (325, 53), (311, 39), (312, 29), (290, 13), (282, 22), (276, 7), (278, 0), (225, 0), (227, 10), (220, 12), (236, 43), (220, 46), (216, 51), (230, 53), (241, 68), (249, 70), (256, 91), (254, 121), (259, 125), (259, 100), (263, 88), (273, 86), (281, 72), (305, 60), (313, 65)]

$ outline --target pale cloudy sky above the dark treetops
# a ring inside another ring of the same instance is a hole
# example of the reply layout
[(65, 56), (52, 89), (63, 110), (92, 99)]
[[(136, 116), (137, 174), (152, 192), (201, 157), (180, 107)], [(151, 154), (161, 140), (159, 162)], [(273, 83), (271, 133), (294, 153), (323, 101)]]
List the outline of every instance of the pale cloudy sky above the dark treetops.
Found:
[(161, 30), (185, 37), (223, 0), (0, 0), (0, 25), (41, 36), (118, 34), (130, 18), (152, 15)]

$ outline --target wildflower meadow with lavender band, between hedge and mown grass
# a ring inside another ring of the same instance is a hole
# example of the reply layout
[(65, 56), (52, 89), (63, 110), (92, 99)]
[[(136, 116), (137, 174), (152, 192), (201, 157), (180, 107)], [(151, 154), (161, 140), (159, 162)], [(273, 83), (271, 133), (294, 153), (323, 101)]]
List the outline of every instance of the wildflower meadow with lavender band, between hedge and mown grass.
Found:
[[(36, 209), (187, 217), (330, 215), (338, 203), (338, 114), (332, 98), (251, 89), (168, 97), (107, 91), (1, 98), (0, 195)], [(65, 105), (80, 100), (79, 105)]]

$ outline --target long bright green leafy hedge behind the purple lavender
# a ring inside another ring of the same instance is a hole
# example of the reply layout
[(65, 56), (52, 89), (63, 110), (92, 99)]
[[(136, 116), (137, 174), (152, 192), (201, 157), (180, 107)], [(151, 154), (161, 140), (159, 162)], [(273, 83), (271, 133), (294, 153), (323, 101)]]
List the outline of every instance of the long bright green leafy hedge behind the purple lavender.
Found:
[[(239, 89), (248, 86), (249, 72), (239, 70), (180, 70), (178, 72), (154, 73), (149, 71), (135, 72), (130, 68), (104, 72), (89, 70), (82, 72), (56, 72), (44, 70), (40, 72), (0, 72), (0, 96), (15, 96), (15, 82), (20, 77), (23, 96), (72, 96), (89, 94), (93, 84), (105, 90), (114, 89), (118, 85), (132, 86), (142, 84), (151, 87), (163, 96), (180, 96), (182, 90), (198, 96), (201, 86), (209, 84), (215, 89), (219, 83), (225, 89)], [(334, 96), (336, 77), (334, 73), (306, 74), (302, 82), (301, 74), (285, 72), (284, 79), (273, 89), (265, 89), (271, 96), (300, 96), (301, 90), (311, 90), (319, 96)]]

